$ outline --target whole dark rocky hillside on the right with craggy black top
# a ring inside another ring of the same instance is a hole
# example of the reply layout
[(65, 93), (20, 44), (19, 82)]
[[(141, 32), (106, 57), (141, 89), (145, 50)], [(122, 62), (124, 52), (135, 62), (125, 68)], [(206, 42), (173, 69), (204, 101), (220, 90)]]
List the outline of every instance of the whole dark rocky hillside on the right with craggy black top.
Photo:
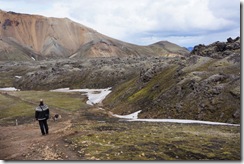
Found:
[(240, 39), (230, 40), (221, 43), (229, 47), (222, 51), (216, 43), (195, 46), (187, 58), (144, 67), (116, 86), (104, 104), (118, 114), (142, 110), (140, 118), (240, 123)]

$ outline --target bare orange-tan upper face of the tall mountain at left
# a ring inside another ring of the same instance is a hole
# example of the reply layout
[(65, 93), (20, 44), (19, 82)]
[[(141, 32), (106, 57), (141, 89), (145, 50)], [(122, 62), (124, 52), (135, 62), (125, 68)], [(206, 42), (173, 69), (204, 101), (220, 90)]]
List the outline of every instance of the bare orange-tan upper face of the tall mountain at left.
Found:
[[(66, 56), (99, 34), (69, 19), (0, 11), (1, 36), (44, 56)], [(65, 50), (65, 51), (61, 51)]]

